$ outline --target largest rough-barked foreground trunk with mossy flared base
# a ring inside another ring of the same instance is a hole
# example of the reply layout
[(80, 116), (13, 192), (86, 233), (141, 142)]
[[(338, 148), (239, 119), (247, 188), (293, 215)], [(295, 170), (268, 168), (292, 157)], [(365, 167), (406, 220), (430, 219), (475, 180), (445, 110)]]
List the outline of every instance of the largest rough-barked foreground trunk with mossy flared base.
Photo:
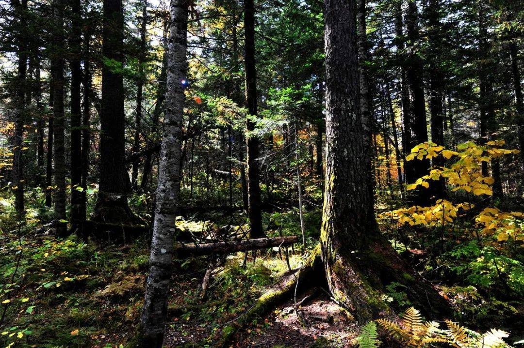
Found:
[(327, 158), (320, 244), (330, 291), (361, 323), (390, 314), (380, 295), (394, 281), (408, 284), (415, 304), (429, 302), (445, 312), (446, 301), (409, 269), (369, 217), (355, 3), (325, 0), (324, 6)]

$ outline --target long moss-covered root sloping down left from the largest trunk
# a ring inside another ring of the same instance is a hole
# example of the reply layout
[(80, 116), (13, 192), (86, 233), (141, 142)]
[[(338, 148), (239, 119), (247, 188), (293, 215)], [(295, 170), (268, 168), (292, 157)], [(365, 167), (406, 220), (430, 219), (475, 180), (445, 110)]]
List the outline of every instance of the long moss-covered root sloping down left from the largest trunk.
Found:
[[(244, 314), (225, 326), (220, 337), (216, 339), (213, 347), (225, 347), (234, 338), (238, 330), (241, 330), (253, 319), (264, 315), (267, 311), (291, 298), (295, 292), (297, 282), (302, 287), (308, 286), (311, 280), (318, 276), (320, 260), (320, 248), (315, 248), (302, 267), (296, 271), (286, 273), (275, 288), (270, 289), (249, 308)], [(316, 273), (316, 274), (315, 274)]]

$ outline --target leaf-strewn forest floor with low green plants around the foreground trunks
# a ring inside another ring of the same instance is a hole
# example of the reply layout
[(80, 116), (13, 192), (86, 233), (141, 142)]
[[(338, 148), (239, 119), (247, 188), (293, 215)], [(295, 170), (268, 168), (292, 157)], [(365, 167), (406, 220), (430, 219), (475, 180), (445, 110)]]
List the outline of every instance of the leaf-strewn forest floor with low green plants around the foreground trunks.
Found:
[[(294, 214), (291, 211), (278, 216), (279, 227), (272, 233), (276, 234), (278, 229), (284, 234), (296, 233), (297, 226), (286, 223), (294, 219)], [(212, 231), (213, 225), (223, 224), (224, 217), (193, 216), (177, 225), (182, 231), (196, 233), (203, 227)], [(311, 224), (312, 229), (315, 226)], [(314, 245), (315, 237), (310, 238)], [(133, 334), (147, 274), (149, 254), (145, 240), (122, 246), (82, 242), (74, 236), (68, 239), (35, 236), (31, 230), (19, 234), (13, 230), (0, 234), (0, 246), (0, 273), (4, 279), (14, 280), (0, 286), (2, 306), (6, 310), (6, 320), (0, 324), (1, 346), (15, 342), (17, 347), (109, 348), (125, 343)], [(297, 269), (303, 258), (297, 249), (290, 248), (289, 252), (290, 266)], [(166, 346), (213, 347), (221, 330), (242, 317), (267, 288), (288, 272), (284, 255), (272, 250), (259, 254), (254, 260), (250, 254), (245, 266), (244, 253), (211, 263), (209, 258), (174, 261)], [(210, 264), (213, 265), (212, 280), (202, 296), (201, 284)], [(298, 320), (291, 298), (239, 330), (231, 346), (355, 346), (359, 328), (351, 315), (326, 295), (322, 290), (325, 287), (318, 280), (304, 285), (310, 287), (305, 293), (298, 293), (296, 301), (300, 303), (304, 297), (313, 295), (299, 307), (306, 325)], [(462, 323), (470, 328), (506, 329), (512, 331), (512, 342), (524, 334), (521, 299), (487, 298), (486, 292), (481, 295), (467, 284), (442, 284), (440, 289), (455, 310), (462, 312)], [(401, 289), (389, 289), (388, 296), (388, 300), (399, 307), (409, 305)]]

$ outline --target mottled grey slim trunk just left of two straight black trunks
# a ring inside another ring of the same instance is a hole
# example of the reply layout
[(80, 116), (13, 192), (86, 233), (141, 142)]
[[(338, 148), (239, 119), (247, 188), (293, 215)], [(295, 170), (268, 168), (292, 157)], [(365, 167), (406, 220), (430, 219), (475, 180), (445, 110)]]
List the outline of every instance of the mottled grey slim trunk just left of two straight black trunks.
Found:
[(67, 234), (65, 224), (65, 145), (64, 145), (64, 59), (65, 44), (62, 0), (53, 0), (55, 32), (51, 52), (53, 84), (53, 139), (54, 139), (54, 226), (58, 236)]

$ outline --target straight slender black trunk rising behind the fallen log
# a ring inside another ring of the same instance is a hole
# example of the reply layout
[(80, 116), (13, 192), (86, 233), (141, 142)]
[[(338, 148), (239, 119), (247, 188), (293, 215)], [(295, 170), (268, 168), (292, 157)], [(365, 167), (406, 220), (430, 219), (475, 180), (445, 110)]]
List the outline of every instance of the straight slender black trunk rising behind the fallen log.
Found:
[[(244, 0), (244, 64), (246, 80), (246, 107), (249, 115), (257, 116), (257, 73), (255, 67), (255, 6), (253, 0)], [(247, 120), (247, 131), (255, 130), (255, 123)], [(260, 199), (259, 139), (247, 136), (247, 198), (250, 238), (264, 237)]]

